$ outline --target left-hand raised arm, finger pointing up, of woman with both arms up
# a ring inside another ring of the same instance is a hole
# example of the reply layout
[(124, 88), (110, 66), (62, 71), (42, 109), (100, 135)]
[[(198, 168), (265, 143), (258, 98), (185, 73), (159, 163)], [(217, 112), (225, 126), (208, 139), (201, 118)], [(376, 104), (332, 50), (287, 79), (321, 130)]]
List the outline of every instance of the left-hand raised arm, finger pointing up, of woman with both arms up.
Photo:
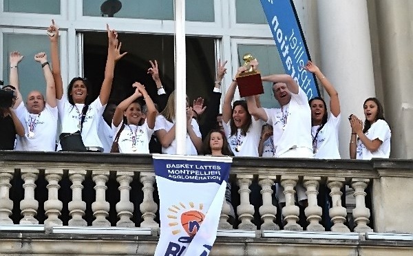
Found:
[[(47, 34), (50, 40), (50, 60), (52, 61), (52, 74), (54, 78), (54, 87), (56, 89), (56, 98), (61, 100), (63, 97), (63, 80), (61, 74), (61, 65), (59, 59), (59, 29), (54, 24), (52, 19), (52, 25), (47, 28)], [(47, 97), (47, 92), (46, 92)]]

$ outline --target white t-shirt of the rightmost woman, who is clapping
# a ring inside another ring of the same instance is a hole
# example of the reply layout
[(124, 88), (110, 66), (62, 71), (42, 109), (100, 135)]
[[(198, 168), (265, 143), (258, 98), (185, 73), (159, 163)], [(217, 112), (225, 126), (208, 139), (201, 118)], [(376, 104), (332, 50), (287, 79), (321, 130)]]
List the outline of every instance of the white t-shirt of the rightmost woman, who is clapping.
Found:
[(363, 142), (357, 139), (357, 153), (356, 159), (370, 160), (372, 158), (389, 158), (390, 157), (390, 138), (392, 137), (392, 131), (385, 120), (377, 120), (372, 124), (370, 129), (366, 131), (366, 136), (370, 140), (379, 139), (381, 143), (377, 151), (371, 152), (366, 149)]

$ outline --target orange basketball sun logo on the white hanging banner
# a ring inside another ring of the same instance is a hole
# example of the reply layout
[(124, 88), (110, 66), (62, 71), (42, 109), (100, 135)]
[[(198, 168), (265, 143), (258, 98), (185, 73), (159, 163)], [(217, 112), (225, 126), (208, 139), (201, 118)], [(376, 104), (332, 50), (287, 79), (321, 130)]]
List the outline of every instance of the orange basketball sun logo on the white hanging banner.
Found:
[[(193, 237), (199, 230), (205, 215), (202, 213), (204, 204), (199, 204), (199, 211), (195, 209), (195, 204), (189, 202), (189, 207), (182, 202), (179, 205), (172, 205), (168, 208), (171, 214), (167, 215), (169, 220), (169, 226), (173, 228), (172, 234), (177, 235), (182, 231), (182, 228), (189, 237)], [(180, 224), (182, 228), (180, 227)]]

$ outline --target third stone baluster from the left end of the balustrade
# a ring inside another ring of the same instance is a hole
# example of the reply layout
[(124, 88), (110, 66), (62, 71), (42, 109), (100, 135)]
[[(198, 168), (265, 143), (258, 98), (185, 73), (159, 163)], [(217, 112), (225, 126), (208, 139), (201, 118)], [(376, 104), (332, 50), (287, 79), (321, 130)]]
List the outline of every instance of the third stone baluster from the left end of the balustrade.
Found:
[(45, 178), (48, 182), (46, 188), (49, 191), (48, 200), (45, 202), (45, 227), (63, 226), (63, 222), (59, 219), (63, 209), (63, 203), (59, 200), (59, 182), (62, 179), (62, 169), (46, 169)]

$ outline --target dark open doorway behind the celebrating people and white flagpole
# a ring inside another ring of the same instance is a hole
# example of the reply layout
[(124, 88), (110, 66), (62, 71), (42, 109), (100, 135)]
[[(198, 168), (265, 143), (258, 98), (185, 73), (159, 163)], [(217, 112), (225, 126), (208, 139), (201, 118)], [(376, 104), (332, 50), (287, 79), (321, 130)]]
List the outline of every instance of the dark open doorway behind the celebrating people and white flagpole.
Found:
[[(134, 90), (135, 81), (145, 85), (149, 95), (156, 97), (156, 85), (147, 74), (149, 60), (157, 60), (160, 78), (167, 93), (175, 86), (173, 36), (120, 33), (121, 52), (128, 52), (115, 68), (114, 84), (109, 101), (119, 103)], [(100, 91), (107, 57), (105, 32), (83, 33), (84, 74), (92, 82), (93, 96)], [(189, 99), (207, 98), (215, 81), (215, 40), (210, 37), (187, 37), (187, 95)]]

